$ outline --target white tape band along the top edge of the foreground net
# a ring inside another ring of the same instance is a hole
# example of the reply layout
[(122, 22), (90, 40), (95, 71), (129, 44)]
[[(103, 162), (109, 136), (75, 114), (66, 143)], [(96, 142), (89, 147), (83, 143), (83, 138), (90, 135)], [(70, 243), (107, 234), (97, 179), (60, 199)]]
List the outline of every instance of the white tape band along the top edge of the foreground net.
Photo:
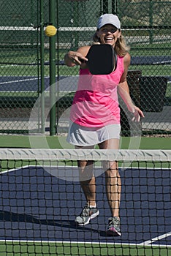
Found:
[(171, 150), (0, 148), (0, 159), (171, 161)]

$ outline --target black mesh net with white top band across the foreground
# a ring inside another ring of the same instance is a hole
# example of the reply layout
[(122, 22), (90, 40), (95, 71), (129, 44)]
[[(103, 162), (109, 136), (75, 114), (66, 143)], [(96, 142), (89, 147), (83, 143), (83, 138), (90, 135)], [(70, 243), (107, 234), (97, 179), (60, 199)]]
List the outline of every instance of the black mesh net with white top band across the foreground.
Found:
[[(77, 160), (93, 160), (99, 216), (75, 224), (86, 201)], [(107, 236), (102, 163), (121, 176), (121, 233)], [(2, 255), (170, 255), (171, 151), (0, 148)]]

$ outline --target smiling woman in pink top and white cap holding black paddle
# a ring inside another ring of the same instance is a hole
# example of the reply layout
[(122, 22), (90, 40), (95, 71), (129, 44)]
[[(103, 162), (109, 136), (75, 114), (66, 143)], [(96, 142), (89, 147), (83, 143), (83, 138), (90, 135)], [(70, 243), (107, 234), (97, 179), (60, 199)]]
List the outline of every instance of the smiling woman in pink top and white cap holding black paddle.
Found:
[[(91, 75), (86, 58), (90, 46), (80, 47), (76, 52), (69, 51), (65, 64), (69, 67), (80, 65), (78, 88), (71, 110), (72, 124), (67, 141), (75, 148), (118, 149), (121, 132), (118, 93), (133, 113), (134, 120), (140, 121), (142, 111), (137, 108), (129, 95), (126, 75), (130, 64), (128, 48), (121, 35), (121, 23), (116, 15), (100, 16), (94, 42), (112, 45), (117, 54), (117, 67), (109, 75)], [(76, 217), (78, 225), (87, 225), (99, 215), (96, 208), (96, 181), (91, 161), (78, 161), (80, 185), (86, 197), (86, 206)], [(117, 162), (105, 165), (105, 184), (111, 217), (108, 219), (107, 233), (121, 236), (119, 205), (121, 199), (121, 178)]]

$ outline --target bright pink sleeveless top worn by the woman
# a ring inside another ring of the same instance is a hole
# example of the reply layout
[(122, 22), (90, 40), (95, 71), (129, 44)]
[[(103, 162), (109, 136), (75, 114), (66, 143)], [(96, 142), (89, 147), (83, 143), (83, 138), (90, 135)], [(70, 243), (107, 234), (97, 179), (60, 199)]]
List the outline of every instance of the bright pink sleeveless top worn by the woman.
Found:
[(120, 56), (117, 68), (109, 75), (91, 75), (88, 69), (80, 69), (71, 121), (83, 127), (120, 124), (117, 86), (123, 70), (123, 57)]

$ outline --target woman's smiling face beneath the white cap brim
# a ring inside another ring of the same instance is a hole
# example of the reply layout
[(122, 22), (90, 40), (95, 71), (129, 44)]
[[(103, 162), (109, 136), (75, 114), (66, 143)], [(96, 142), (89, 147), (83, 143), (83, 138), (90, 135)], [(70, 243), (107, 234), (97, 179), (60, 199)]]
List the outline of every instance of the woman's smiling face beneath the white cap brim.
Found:
[(102, 26), (97, 32), (97, 37), (99, 37), (102, 44), (108, 44), (115, 46), (115, 42), (121, 35), (121, 31), (115, 26), (107, 24)]

